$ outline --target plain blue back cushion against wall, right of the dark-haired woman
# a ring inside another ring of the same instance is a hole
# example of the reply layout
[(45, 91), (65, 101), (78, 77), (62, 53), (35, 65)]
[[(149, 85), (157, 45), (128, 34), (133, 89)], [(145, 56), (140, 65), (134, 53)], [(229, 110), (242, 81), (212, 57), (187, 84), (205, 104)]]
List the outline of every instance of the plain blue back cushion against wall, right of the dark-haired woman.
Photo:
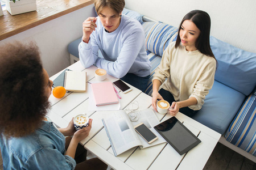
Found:
[(218, 61), (215, 79), (248, 96), (256, 85), (256, 53), (238, 49), (212, 36), (210, 46)]

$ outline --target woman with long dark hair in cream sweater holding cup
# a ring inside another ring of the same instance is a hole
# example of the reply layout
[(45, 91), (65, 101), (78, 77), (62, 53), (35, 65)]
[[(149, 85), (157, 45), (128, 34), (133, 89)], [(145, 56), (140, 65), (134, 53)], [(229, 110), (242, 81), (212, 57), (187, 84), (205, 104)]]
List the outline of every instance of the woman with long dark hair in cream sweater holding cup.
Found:
[(193, 10), (184, 16), (176, 42), (164, 51), (152, 79), (155, 110), (158, 99), (170, 103), (168, 112), (172, 116), (180, 111), (191, 117), (201, 109), (213, 86), (216, 70), (209, 36), (210, 16), (207, 12)]

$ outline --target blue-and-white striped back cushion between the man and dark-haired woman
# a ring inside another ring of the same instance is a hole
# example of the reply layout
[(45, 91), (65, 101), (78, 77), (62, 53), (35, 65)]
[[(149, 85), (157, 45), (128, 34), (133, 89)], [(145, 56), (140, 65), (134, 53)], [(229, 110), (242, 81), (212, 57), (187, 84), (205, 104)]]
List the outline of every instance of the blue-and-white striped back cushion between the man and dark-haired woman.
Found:
[(163, 56), (163, 52), (170, 42), (176, 41), (177, 39), (178, 29), (171, 25), (144, 22), (142, 26), (145, 32), (146, 48), (158, 56)]

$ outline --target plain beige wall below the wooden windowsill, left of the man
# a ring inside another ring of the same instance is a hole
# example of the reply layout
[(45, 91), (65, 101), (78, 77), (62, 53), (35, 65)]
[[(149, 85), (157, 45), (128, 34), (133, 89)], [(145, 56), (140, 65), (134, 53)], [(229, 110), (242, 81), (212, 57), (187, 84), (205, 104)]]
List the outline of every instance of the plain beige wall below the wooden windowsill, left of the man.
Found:
[(68, 44), (82, 36), (82, 22), (94, 16), (94, 5), (81, 8), (37, 27), (0, 41), (35, 41), (40, 49), (44, 68), (52, 76), (70, 65)]

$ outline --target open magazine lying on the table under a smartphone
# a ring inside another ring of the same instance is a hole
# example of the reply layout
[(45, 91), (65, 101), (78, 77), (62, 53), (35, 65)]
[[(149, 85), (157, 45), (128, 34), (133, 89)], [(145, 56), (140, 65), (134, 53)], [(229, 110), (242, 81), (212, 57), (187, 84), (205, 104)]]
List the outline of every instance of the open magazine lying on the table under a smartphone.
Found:
[[(158, 125), (160, 122), (153, 109), (144, 109), (134, 113), (139, 116), (139, 120), (136, 122), (131, 122), (129, 116), (123, 110), (108, 114), (107, 117), (102, 119), (115, 156), (122, 154), (133, 147), (139, 146), (142, 149), (166, 142), (154, 129), (154, 126)], [(134, 126), (141, 122), (143, 122), (158, 137), (156, 141), (148, 144), (134, 130)]]

